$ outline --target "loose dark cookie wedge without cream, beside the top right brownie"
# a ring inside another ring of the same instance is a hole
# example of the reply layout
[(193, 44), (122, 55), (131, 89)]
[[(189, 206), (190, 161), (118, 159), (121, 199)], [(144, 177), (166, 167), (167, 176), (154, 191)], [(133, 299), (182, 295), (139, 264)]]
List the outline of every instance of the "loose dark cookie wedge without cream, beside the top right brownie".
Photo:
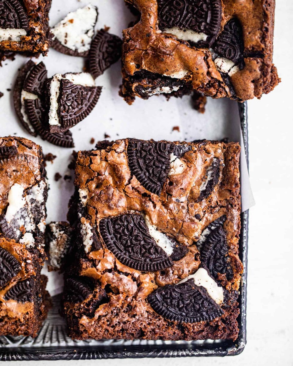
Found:
[(89, 68), (94, 79), (118, 61), (122, 52), (122, 40), (104, 29), (97, 32), (89, 51)]

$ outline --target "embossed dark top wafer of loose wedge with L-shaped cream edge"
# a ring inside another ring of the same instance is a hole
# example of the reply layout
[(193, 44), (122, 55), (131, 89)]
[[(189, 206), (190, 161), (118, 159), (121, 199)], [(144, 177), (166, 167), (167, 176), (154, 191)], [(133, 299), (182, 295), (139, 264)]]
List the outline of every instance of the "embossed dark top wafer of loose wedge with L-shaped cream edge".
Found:
[(97, 104), (101, 90), (101, 86), (75, 85), (66, 79), (60, 80), (59, 130), (66, 131), (87, 117)]

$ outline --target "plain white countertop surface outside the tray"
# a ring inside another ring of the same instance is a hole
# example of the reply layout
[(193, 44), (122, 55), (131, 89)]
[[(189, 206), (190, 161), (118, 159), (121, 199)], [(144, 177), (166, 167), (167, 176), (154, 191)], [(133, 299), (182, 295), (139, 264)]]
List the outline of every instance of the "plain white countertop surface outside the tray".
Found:
[[(293, 59), (293, 3), (289, 0), (276, 0), (276, 3), (274, 62), (282, 83), (261, 100), (248, 102), (249, 170), (256, 206), (249, 213), (244, 352), (236, 358), (70, 361), (72, 366), (293, 365), (293, 202), (290, 191), (293, 77), (288, 70)], [(4, 68), (0, 69), (3, 71)], [(55, 363), (59, 365), (61, 361)], [(36, 364), (29, 363), (30, 366)], [(52, 362), (38, 362), (38, 365), (49, 364)]]

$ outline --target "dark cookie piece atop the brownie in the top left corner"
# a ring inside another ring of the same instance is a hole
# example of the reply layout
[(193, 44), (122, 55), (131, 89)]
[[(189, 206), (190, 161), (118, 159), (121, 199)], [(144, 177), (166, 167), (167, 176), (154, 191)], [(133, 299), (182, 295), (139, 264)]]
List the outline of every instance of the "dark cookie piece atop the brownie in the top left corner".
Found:
[(29, 29), (29, 20), (21, 1), (0, 1), (0, 28)]

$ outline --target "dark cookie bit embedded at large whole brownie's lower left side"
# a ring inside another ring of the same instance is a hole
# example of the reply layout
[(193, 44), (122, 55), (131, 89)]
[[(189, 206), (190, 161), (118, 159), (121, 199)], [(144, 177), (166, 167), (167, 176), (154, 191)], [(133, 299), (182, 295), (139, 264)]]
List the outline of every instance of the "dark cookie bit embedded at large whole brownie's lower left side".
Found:
[(93, 290), (87, 277), (68, 278), (64, 284), (64, 300), (73, 303), (83, 302)]

